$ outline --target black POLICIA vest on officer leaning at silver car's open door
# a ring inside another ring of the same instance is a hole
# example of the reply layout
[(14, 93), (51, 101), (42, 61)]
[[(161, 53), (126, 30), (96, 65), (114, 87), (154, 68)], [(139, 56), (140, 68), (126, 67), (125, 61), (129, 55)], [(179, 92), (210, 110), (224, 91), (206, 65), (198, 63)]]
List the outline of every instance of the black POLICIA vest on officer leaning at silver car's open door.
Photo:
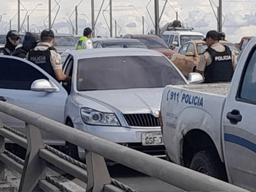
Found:
[[(50, 50), (55, 50), (53, 47), (49, 47), (45, 51), (35, 51), (34, 49), (30, 50), (28, 53), (28, 60), (32, 63), (35, 63), (38, 67), (41, 67), (50, 74), (53, 78), (56, 79), (52, 64), (51, 64), (51, 52)], [(58, 81), (58, 79), (56, 79)]]

